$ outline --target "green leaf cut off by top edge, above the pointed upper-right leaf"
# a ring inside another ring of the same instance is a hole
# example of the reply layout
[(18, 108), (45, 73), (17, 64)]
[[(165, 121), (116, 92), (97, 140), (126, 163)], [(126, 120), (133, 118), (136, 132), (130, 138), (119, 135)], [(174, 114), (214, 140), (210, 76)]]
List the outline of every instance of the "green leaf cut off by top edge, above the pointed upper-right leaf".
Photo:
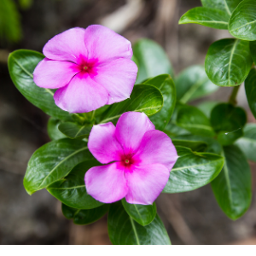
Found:
[(241, 0), (201, 0), (201, 3), (204, 7), (222, 9), (231, 15)]

